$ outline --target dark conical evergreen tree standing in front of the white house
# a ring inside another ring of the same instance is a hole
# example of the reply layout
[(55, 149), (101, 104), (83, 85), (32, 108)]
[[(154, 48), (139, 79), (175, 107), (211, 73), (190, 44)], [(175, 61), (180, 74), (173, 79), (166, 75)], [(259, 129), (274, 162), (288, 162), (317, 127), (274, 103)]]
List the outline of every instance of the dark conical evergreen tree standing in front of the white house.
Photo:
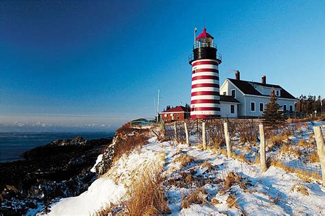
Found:
[(285, 123), (285, 117), (280, 110), (280, 105), (276, 102), (276, 95), (274, 91), (271, 93), (269, 103), (266, 104), (266, 108), (263, 111), (263, 122), (267, 126), (276, 126)]

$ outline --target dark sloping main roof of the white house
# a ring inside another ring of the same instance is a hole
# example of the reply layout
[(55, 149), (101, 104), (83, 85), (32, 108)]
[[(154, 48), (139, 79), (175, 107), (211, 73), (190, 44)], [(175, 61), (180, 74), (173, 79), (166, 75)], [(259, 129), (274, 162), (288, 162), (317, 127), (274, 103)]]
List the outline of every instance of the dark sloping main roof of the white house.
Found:
[(232, 84), (234, 84), (237, 88), (239, 88), (244, 94), (247, 94), (247, 95), (258, 95), (258, 96), (267, 96), (267, 97), (269, 97), (269, 95), (261, 94), (259, 91), (257, 91), (254, 88), (254, 86), (252, 86), (252, 84), (256, 84), (258, 86), (265, 86), (265, 87), (268, 87), (268, 88), (279, 88), (279, 89), (281, 89), (281, 96), (278, 97), (278, 98), (296, 99), (296, 97), (293, 97), (293, 95), (291, 95), (290, 93), (285, 91), (285, 89), (282, 88), (279, 85), (263, 84), (261, 82), (249, 82), (249, 81), (245, 81), (245, 80), (235, 80), (235, 79), (230, 79), (230, 78), (228, 78), (228, 80), (230, 82), (232, 82)]

